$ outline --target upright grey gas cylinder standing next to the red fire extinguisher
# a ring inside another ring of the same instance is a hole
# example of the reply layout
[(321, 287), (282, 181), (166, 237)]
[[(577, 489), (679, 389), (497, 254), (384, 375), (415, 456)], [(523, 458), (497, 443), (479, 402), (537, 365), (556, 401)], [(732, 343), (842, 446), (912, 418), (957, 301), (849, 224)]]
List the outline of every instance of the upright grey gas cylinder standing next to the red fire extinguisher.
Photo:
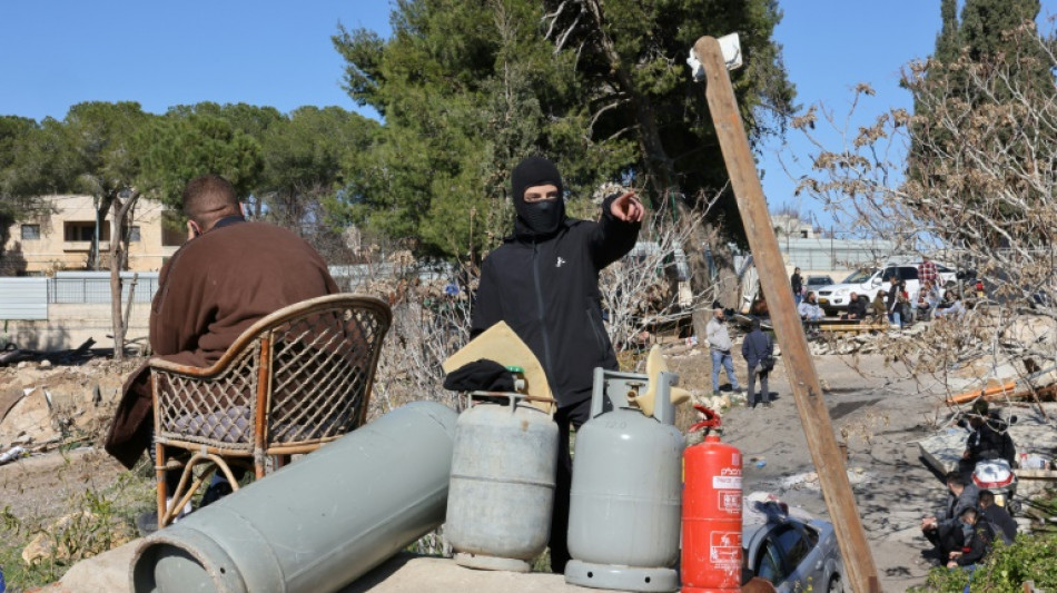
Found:
[[(591, 418), (576, 433), (565, 581), (622, 591), (675, 591), (683, 437), (661, 373), (653, 416), (630, 403), (645, 375), (595, 368)], [(612, 409), (604, 411), (609, 399)]]

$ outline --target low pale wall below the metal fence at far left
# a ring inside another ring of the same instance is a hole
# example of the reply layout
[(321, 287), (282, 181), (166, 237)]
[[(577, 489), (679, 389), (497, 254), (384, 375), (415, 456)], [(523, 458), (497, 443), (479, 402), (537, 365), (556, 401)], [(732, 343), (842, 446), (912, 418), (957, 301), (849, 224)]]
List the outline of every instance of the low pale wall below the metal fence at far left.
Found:
[[(48, 307), (48, 320), (40, 322), (0, 322), (0, 343), (13, 342), (20, 348), (34, 350), (65, 350), (76, 348), (88, 338), (95, 338), (97, 348), (113, 347), (110, 325), (110, 305), (61, 305)], [(129, 315), (126, 343), (142, 338), (146, 344), (150, 304), (134, 304)]]

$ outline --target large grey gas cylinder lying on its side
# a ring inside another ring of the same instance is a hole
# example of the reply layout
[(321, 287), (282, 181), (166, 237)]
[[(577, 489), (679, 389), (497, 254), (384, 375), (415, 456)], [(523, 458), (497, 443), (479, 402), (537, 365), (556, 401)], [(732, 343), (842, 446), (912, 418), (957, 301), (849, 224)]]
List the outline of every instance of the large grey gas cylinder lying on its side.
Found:
[(145, 538), (131, 590), (326, 593), (444, 522), (457, 414), (399, 407)]

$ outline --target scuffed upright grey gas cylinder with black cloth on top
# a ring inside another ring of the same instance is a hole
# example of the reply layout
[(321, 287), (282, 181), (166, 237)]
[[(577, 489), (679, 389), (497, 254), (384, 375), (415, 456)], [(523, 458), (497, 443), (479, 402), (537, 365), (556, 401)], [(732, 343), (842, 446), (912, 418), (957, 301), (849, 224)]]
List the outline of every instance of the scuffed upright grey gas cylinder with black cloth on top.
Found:
[(463, 566), (527, 572), (550, 536), (557, 424), (521, 394), (482, 395), (507, 404), (458, 417), (444, 537)]

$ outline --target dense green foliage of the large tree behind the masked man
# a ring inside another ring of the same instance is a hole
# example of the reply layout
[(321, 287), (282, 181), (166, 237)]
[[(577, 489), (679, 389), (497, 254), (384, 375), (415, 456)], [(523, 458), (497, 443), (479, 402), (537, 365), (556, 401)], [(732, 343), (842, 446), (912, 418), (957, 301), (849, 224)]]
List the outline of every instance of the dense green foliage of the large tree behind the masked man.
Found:
[(508, 174), (533, 152), (559, 162), (573, 198), (606, 180), (648, 198), (722, 187), (683, 61), (700, 36), (738, 31), (748, 67), (734, 85), (752, 138), (779, 134), (793, 98), (771, 40), (780, 17), (773, 0), (401, 0), (389, 39), (334, 37), (349, 96), (385, 119), (343, 215), (461, 256), (510, 230)]

